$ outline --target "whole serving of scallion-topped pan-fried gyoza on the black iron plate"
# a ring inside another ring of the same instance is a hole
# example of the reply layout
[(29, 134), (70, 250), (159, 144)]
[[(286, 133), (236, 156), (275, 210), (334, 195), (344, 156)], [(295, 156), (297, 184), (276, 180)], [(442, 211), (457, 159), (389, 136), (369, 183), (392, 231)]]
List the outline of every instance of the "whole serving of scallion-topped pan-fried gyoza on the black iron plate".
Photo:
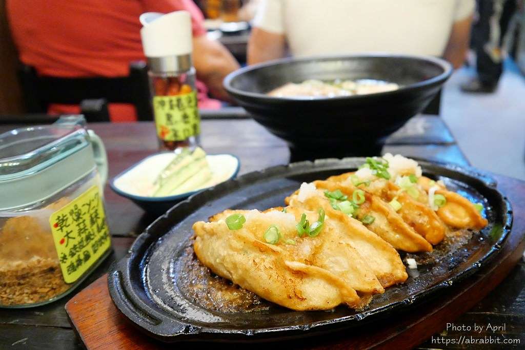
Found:
[(285, 203), (195, 222), (194, 251), (219, 276), (293, 310), (362, 309), (407, 279), (396, 249), (429, 252), (450, 232), (487, 225), (480, 204), (391, 154), (303, 183)]

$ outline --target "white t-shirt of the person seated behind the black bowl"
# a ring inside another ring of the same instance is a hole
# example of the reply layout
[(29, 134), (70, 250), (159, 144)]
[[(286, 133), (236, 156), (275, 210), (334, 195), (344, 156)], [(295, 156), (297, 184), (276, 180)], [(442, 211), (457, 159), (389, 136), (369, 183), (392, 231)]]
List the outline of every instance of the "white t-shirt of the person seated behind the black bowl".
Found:
[(293, 56), (391, 52), (441, 56), (475, 0), (262, 0), (253, 25), (285, 34)]

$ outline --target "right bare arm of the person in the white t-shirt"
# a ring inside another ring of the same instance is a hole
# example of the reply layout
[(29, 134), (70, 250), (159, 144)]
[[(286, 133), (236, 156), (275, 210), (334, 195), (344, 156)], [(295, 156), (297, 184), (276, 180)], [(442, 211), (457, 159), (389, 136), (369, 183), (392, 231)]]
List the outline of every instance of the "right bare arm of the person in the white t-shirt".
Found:
[(452, 63), (454, 68), (463, 66), (463, 63), (465, 62), (470, 39), (471, 24), (472, 16), (469, 16), (454, 23), (454, 26), (452, 27), (443, 57)]

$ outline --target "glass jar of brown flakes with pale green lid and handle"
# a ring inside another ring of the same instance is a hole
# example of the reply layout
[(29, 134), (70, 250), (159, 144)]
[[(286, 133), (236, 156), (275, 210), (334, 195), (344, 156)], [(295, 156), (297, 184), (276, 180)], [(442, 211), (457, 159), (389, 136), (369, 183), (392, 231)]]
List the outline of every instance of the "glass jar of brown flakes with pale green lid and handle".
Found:
[(111, 253), (100, 138), (82, 116), (0, 134), (0, 307), (74, 290)]

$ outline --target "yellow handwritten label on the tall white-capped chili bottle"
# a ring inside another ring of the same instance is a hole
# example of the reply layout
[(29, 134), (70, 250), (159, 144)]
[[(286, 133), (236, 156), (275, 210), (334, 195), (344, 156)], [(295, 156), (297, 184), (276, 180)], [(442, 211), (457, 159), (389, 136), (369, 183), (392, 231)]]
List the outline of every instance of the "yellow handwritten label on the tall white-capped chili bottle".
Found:
[(201, 133), (201, 118), (194, 91), (177, 96), (155, 96), (153, 110), (157, 135), (161, 140), (184, 141)]

